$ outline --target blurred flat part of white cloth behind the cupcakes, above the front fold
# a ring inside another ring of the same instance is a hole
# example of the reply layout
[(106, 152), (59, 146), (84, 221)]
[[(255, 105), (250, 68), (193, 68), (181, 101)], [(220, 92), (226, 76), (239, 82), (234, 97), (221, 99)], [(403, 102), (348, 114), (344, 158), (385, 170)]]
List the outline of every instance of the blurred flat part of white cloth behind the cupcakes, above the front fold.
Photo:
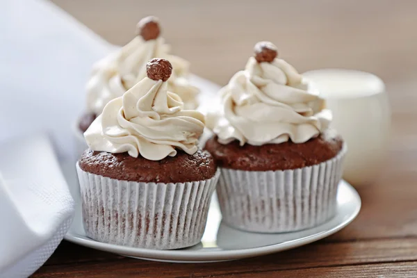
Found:
[(0, 142), (43, 129), (70, 156), (91, 67), (115, 47), (49, 1), (1, 1), (0, 26)]

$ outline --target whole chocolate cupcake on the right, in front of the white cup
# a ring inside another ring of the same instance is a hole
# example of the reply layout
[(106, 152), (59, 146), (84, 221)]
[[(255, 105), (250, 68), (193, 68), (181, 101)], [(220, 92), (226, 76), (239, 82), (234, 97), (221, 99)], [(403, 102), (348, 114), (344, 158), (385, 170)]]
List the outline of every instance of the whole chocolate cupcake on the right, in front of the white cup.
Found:
[(223, 221), (256, 232), (314, 227), (336, 213), (345, 144), (331, 111), (294, 67), (259, 42), (245, 70), (220, 91), (222, 113), (206, 124), (221, 175)]

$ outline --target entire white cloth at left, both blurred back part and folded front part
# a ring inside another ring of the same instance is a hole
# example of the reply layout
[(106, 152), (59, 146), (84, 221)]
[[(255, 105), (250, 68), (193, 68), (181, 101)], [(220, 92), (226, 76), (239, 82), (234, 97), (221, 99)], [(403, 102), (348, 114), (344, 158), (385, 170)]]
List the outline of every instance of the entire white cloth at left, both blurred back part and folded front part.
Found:
[(91, 66), (114, 47), (49, 1), (1, 1), (0, 26), (0, 277), (28, 277), (74, 210), (49, 140), (33, 133), (71, 156)]

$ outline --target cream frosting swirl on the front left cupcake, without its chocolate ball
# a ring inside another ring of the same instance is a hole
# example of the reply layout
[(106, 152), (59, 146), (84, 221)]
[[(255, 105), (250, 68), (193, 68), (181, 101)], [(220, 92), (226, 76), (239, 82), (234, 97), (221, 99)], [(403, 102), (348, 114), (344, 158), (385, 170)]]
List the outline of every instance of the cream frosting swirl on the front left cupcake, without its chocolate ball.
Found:
[(145, 77), (108, 102), (84, 137), (93, 151), (128, 152), (158, 161), (175, 156), (177, 148), (194, 154), (203, 131), (201, 113), (183, 110), (181, 98), (167, 90), (167, 82)]

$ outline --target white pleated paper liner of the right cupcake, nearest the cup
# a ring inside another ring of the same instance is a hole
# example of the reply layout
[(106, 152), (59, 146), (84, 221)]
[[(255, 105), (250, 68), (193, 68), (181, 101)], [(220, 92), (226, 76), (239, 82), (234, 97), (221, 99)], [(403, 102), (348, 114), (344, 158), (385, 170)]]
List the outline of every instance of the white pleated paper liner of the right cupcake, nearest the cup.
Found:
[(217, 194), (223, 221), (245, 231), (297, 231), (336, 213), (336, 194), (347, 147), (318, 165), (284, 171), (221, 168)]

